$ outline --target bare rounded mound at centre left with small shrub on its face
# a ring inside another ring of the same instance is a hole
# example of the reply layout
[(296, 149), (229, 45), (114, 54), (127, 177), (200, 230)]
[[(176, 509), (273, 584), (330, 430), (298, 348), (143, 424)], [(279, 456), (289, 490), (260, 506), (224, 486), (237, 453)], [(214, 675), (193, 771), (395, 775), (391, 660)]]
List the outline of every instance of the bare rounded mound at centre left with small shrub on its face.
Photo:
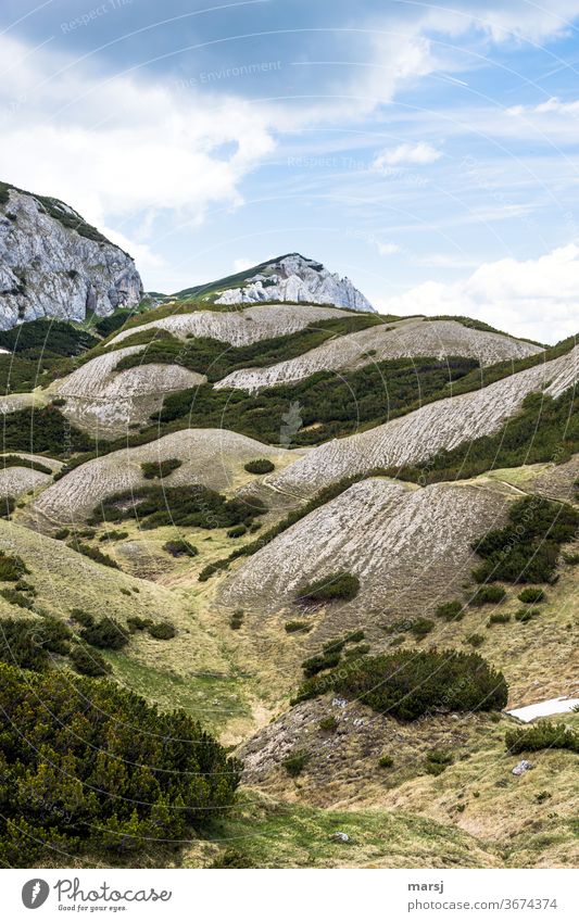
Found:
[(292, 453), (224, 429), (184, 429), (75, 468), (45, 490), (34, 511), (53, 522), (79, 521), (113, 493), (159, 482), (144, 480), (141, 463), (167, 458), (178, 458), (182, 465), (163, 479), (164, 487), (202, 483), (213, 490), (227, 490), (240, 475), (244, 475), (243, 480), (249, 478), (243, 471), (247, 462), (261, 457), (287, 464)]

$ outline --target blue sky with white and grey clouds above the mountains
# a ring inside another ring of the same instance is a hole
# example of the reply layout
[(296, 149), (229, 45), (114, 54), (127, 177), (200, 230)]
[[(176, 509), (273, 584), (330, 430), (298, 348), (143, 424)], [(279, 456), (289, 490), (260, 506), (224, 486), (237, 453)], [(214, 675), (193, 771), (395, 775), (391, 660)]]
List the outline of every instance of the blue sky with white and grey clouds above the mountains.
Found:
[(579, 331), (579, 0), (2, 0), (0, 178), (175, 292), (281, 253)]

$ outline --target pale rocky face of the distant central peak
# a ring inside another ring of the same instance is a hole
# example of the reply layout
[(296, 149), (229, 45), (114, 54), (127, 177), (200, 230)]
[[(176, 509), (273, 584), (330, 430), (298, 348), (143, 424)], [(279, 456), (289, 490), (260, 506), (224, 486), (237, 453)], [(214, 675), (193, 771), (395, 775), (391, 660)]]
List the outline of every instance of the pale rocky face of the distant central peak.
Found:
[(354, 288), (350, 279), (330, 273), (322, 263), (291, 253), (275, 260), (240, 288), (229, 288), (216, 304), (255, 304), (260, 301), (298, 301), (307, 304), (332, 304), (353, 311), (376, 313), (369, 301)]

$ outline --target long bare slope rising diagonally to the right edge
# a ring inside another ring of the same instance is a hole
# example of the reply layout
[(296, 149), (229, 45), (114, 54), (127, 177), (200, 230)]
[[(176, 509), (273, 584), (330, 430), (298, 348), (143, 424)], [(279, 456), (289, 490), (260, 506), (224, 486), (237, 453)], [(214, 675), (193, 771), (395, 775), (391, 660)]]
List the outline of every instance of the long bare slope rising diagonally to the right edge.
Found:
[[(281, 492), (311, 496), (342, 477), (374, 467), (420, 464), (440, 449), (495, 432), (527, 394), (543, 387), (559, 396), (579, 380), (579, 346), (479, 391), (427, 404), (407, 416), (357, 435), (314, 449), (279, 476), (268, 479)], [(521, 462), (524, 459), (521, 458)]]

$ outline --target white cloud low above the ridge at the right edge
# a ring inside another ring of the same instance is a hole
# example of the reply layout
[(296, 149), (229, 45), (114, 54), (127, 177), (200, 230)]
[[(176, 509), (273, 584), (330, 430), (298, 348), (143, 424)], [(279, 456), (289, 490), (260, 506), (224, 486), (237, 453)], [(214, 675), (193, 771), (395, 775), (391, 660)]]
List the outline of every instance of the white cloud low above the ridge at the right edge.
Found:
[(579, 245), (538, 260), (484, 263), (468, 278), (426, 281), (380, 302), (392, 314), (462, 314), (541, 342), (579, 332)]

